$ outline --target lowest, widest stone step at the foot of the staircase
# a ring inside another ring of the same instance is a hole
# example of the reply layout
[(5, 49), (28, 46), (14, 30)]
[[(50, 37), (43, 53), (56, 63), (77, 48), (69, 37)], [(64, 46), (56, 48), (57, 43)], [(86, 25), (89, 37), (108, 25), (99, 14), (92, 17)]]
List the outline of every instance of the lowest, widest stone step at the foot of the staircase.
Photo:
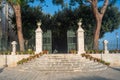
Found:
[(36, 71), (99, 71), (105, 70), (106, 66), (101, 66), (99, 68), (85, 68), (85, 67), (24, 67), (23, 70), (36, 70)]

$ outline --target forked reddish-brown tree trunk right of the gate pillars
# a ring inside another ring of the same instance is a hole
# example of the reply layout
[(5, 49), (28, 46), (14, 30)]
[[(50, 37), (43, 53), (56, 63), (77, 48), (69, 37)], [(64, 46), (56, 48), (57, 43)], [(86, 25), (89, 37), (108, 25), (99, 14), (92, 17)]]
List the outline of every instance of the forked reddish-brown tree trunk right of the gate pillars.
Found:
[(94, 50), (98, 50), (98, 40), (99, 40), (99, 36), (100, 36), (102, 18), (107, 9), (109, 0), (104, 0), (104, 4), (103, 4), (100, 12), (98, 11), (98, 7), (97, 7), (98, 0), (88, 0), (88, 1), (91, 3), (93, 14), (96, 19), (96, 29), (94, 32), (94, 47), (93, 48), (94, 48)]

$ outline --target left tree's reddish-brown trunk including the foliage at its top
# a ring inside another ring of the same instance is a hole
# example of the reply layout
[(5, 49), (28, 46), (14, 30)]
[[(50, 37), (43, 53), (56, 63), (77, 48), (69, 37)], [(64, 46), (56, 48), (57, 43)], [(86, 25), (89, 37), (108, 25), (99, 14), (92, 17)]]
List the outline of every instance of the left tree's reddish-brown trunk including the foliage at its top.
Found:
[(21, 20), (21, 7), (20, 7), (21, 0), (7, 0), (7, 1), (13, 7), (15, 13), (20, 51), (24, 51), (24, 38), (22, 33), (22, 20)]

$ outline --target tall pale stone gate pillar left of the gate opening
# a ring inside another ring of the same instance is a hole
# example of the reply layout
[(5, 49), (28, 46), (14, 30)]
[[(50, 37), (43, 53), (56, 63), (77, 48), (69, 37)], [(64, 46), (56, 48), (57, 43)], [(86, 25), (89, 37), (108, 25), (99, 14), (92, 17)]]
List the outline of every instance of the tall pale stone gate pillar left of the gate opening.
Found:
[(38, 28), (36, 29), (36, 51), (35, 53), (38, 54), (42, 52), (42, 30), (40, 28), (41, 22), (37, 23)]

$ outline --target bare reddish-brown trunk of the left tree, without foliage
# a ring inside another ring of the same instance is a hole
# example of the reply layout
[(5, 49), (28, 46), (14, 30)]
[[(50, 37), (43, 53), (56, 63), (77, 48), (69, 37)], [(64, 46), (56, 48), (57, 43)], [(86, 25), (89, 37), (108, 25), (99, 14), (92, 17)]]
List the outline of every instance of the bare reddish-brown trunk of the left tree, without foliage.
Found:
[(17, 24), (17, 35), (18, 41), (20, 45), (20, 51), (24, 51), (24, 38), (22, 33), (22, 21), (21, 21), (21, 8), (19, 4), (13, 5), (15, 16), (16, 16), (16, 24)]

